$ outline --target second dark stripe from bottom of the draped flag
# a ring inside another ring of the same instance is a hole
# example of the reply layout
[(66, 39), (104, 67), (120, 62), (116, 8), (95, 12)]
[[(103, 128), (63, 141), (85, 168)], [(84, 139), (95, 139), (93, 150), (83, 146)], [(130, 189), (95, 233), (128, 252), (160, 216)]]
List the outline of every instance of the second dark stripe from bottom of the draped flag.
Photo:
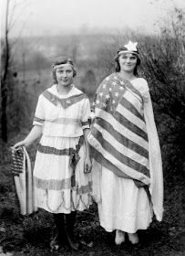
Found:
[(92, 131), (92, 135), (98, 140), (98, 143), (102, 145), (102, 148), (106, 150), (109, 155), (111, 154), (112, 157), (116, 158), (120, 164), (127, 165), (130, 169), (134, 169), (149, 176), (149, 169), (145, 165), (140, 165), (136, 161), (130, 159), (128, 156), (118, 152), (118, 150), (112, 144), (109, 144), (108, 141), (103, 138), (102, 133), (100, 133), (95, 127)]

